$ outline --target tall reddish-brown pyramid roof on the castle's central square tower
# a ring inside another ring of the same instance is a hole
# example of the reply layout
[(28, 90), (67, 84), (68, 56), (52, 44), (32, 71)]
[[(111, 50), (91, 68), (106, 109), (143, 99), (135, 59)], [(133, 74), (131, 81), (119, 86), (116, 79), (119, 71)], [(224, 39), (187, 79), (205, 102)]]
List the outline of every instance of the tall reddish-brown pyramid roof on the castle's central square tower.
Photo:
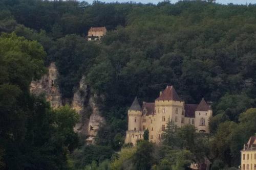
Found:
[(156, 101), (182, 101), (173, 86), (167, 86)]

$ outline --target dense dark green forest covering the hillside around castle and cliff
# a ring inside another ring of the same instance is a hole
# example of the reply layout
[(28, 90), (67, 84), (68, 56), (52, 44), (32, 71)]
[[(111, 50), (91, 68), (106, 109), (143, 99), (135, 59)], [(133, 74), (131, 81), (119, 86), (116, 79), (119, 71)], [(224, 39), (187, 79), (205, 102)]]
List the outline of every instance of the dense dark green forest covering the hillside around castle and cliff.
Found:
[[(100, 43), (87, 41), (104, 26)], [(0, 31), (0, 169), (237, 169), (256, 133), (256, 5), (0, 0)], [(95, 145), (73, 131), (68, 103), (30, 93), (51, 62), (63, 99), (82, 76), (104, 96)], [(124, 144), (134, 97), (153, 102), (168, 84), (186, 103), (212, 103), (211, 133), (168, 123), (161, 145)]]

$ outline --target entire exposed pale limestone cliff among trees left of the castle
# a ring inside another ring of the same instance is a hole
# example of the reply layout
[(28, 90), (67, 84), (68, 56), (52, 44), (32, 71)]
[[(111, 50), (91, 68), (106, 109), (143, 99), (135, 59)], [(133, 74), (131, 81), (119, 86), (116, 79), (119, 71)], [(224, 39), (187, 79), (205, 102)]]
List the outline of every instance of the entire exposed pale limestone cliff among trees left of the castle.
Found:
[[(93, 143), (100, 124), (104, 123), (104, 118), (100, 115), (100, 106), (96, 101), (101, 101), (102, 96), (93, 95), (90, 87), (85, 83), (86, 77), (82, 77), (78, 90), (74, 93), (73, 99), (61, 99), (61, 94), (57, 85), (58, 70), (55, 63), (48, 67), (48, 74), (39, 81), (30, 84), (30, 92), (35, 95), (45, 94), (46, 99), (53, 108), (62, 106), (62, 103), (70, 103), (71, 107), (80, 114), (80, 121), (74, 128), (81, 136), (89, 136), (87, 141)], [(70, 102), (63, 102), (63, 101)]]

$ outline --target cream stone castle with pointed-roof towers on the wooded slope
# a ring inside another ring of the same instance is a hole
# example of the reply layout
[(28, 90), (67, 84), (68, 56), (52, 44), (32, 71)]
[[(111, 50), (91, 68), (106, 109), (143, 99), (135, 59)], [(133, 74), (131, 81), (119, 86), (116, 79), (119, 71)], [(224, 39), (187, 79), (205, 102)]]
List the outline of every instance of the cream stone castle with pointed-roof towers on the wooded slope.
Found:
[(197, 132), (209, 133), (209, 117), (212, 110), (204, 99), (197, 104), (185, 104), (173, 86), (167, 86), (160, 91), (155, 103), (143, 102), (142, 108), (135, 98), (128, 110), (128, 130), (125, 143), (136, 144), (138, 139), (143, 139), (144, 130), (148, 129), (149, 139), (159, 143), (161, 134), (165, 130), (168, 120), (173, 121), (177, 127), (187, 124), (194, 125)]

